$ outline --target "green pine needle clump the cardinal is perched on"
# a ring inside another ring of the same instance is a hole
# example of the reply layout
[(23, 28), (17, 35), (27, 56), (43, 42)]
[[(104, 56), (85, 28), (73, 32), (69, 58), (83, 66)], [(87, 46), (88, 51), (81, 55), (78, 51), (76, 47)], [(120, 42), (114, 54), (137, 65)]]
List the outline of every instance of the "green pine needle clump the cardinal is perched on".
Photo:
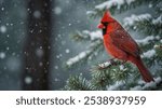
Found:
[(129, 78), (136, 74), (130, 70), (130, 64), (124, 64), (124, 66), (122, 64), (118, 59), (98, 64), (91, 71), (91, 83), (96, 90), (107, 90), (113, 82), (125, 82)]

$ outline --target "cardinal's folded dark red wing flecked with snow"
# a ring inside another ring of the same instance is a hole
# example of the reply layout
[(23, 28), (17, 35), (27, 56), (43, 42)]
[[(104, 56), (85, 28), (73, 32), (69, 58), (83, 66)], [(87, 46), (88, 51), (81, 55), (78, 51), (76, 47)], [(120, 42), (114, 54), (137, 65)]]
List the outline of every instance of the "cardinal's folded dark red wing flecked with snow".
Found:
[(131, 36), (124, 29), (109, 32), (109, 36), (111, 37), (112, 43), (117, 47), (135, 57), (139, 56), (140, 50), (137, 43), (131, 38)]

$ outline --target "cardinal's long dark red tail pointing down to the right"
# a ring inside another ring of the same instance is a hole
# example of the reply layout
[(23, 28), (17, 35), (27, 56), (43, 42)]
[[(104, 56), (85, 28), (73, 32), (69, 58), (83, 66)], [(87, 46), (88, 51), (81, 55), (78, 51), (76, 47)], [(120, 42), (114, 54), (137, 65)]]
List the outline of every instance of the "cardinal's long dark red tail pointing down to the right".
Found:
[(139, 58), (132, 58), (131, 62), (137, 66), (137, 68), (139, 69), (140, 74), (141, 74), (145, 82), (154, 81), (150, 71), (145, 67), (140, 57)]

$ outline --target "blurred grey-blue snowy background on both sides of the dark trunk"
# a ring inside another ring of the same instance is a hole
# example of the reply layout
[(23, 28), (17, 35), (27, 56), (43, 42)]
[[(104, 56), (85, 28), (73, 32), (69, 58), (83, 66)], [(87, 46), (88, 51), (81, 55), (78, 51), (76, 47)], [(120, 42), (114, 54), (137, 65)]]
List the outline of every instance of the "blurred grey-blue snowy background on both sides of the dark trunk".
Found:
[[(86, 11), (98, 0), (52, 0), (52, 55), (50, 90), (59, 90), (72, 72), (64, 63), (77, 55), (86, 45), (70, 40), (76, 30), (93, 30), (96, 22), (86, 16)], [(0, 90), (22, 90), (23, 47), (27, 29), (26, 0), (0, 0)], [(30, 79), (28, 79), (30, 80)]]

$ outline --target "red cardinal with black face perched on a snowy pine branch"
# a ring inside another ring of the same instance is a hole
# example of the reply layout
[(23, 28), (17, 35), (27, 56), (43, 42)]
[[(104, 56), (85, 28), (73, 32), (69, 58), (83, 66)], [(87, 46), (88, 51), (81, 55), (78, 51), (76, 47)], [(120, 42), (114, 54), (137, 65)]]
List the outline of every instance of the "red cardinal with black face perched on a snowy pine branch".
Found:
[(105, 12), (98, 28), (103, 29), (104, 45), (110, 55), (123, 62), (129, 60), (135, 64), (144, 81), (154, 81), (143, 64), (139, 46), (108, 11)]

